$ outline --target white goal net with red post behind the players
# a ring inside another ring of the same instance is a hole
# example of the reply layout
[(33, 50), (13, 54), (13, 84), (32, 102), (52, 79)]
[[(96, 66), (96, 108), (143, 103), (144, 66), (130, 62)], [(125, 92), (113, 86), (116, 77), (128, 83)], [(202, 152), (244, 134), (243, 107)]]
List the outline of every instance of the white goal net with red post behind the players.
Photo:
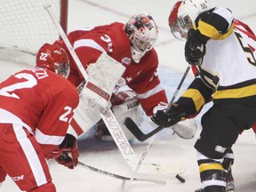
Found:
[(35, 66), (38, 49), (60, 39), (44, 4), (67, 32), (68, 0), (0, 0), (0, 58)]

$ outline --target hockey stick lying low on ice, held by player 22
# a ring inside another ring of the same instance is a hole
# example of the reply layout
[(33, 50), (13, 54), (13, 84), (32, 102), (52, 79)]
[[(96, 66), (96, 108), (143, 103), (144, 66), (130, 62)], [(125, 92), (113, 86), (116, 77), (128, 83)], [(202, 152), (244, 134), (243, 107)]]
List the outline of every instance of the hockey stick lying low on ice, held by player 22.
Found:
[[(119, 174), (115, 174), (115, 173), (112, 173), (112, 172), (106, 172), (106, 171), (103, 171), (103, 170), (100, 170), (96, 167), (93, 167), (91, 165), (88, 165), (88, 164), (84, 164), (80, 161), (78, 161), (78, 164), (84, 168), (87, 168), (93, 172), (99, 172), (101, 174), (104, 174), (104, 175), (108, 175), (110, 177), (113, 177), (113, 178), (116, 178), (118, 180), (131, 180), (132, 178), (129, 178), (129, 177), (124, 177), (122, 175), (119, 175)], [(137, 180), (137, 181), (146, 181), (146, 182), (153, 182), (153, 183), (156, 183), (156, 184), (159, 184), (159, 185), (165, 185), (166, 182), (164, 180), (154, 180), (154, 179), (147, 179), (147, 178), (133, 178), (133, 180)]]

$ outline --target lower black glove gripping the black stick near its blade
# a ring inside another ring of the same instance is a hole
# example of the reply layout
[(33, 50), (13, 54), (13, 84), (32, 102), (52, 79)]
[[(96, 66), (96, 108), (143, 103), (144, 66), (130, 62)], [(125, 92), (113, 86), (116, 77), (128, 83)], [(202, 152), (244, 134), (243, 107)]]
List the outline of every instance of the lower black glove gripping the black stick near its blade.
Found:
[(159, 126), (170, 127), (173, 124), (184, 121), (187, 117), (188, 110), (179, 106), (177, 103), (173, 103), (168, 112), (158, 110), (156, 114), (151, 117), (151, 120)]

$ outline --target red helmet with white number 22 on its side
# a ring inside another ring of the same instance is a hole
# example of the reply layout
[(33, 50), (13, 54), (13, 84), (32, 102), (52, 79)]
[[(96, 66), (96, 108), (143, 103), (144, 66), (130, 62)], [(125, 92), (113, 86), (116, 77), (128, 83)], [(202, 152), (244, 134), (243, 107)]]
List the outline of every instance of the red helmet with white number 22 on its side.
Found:
[(60, 45), (44, 44), (37, 52), (36, 67), (47, 68), (67, 78), (69, 74), (68, 54)]

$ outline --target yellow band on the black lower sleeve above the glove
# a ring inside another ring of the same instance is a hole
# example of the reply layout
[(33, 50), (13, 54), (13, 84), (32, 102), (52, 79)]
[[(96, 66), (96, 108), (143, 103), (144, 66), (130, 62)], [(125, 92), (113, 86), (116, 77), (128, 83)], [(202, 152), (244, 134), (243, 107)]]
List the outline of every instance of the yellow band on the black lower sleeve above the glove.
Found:
[(188, 89), (181, 97), (191, 98), (196, 106), (196, 112), (198, 112), (205, 104), (203, 95), (196, 89)]

